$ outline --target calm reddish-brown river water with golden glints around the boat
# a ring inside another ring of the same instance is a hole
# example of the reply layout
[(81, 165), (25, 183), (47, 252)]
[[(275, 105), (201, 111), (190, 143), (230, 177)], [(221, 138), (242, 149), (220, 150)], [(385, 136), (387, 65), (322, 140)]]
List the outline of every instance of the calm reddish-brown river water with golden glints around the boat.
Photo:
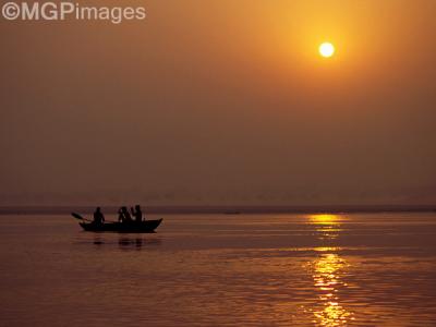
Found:
[(9, 215), (0, 261), (0, 326), (436, 326), (436, 214)]

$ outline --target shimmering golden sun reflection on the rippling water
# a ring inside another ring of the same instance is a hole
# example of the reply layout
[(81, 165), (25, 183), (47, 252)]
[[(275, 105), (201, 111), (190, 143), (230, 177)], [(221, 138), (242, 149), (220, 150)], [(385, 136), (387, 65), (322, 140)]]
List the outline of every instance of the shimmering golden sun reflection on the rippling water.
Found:
[[(336, 239), (343, 217), (338, 215), (312, 215), (310, 223), (315, 226), (319, 240)], [(318, 326), (346, 326), (354, 319), (353, 313), (341, 305), (339, 292), (347, 288), (343, 281), (349, 263), (339, 256), (340, 247), (317, 247), (320, 255), (311, 263), (312, 277), (318, 292), (318, 303), (313, 308), (314, 324)]]

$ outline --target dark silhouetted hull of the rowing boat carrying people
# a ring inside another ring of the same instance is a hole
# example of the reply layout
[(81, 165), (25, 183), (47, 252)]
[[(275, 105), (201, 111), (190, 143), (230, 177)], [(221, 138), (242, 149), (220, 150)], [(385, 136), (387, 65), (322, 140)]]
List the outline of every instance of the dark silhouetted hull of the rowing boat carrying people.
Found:
[(80, 226), (85, 231), (90, 232), (153, 233), (160, 222), (162, 222), (162, 219), (130, 223), (108, 222), (102, 225), (94, 222), (80, 222)]

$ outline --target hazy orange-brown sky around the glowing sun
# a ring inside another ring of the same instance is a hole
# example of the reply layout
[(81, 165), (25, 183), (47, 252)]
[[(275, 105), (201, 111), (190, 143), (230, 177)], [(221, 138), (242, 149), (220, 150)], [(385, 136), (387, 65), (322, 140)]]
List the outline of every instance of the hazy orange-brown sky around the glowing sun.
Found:
[(436, 1), (98, 3), (0, 20), (1, 205), (436, 202)]

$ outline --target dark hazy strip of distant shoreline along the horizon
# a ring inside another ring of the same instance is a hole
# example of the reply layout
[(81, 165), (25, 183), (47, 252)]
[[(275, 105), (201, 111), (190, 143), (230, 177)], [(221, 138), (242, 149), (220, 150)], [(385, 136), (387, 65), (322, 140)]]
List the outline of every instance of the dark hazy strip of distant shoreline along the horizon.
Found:
[[(118, 207), (101, 206), (106, 214)], [(352, 214), (352, 213), (436, 213), (436, 205), (319, 205), (319, 206), (144, 206), (147, 214)], [(94, 206), (0, 206), (0, 215), (90, 214)]]

